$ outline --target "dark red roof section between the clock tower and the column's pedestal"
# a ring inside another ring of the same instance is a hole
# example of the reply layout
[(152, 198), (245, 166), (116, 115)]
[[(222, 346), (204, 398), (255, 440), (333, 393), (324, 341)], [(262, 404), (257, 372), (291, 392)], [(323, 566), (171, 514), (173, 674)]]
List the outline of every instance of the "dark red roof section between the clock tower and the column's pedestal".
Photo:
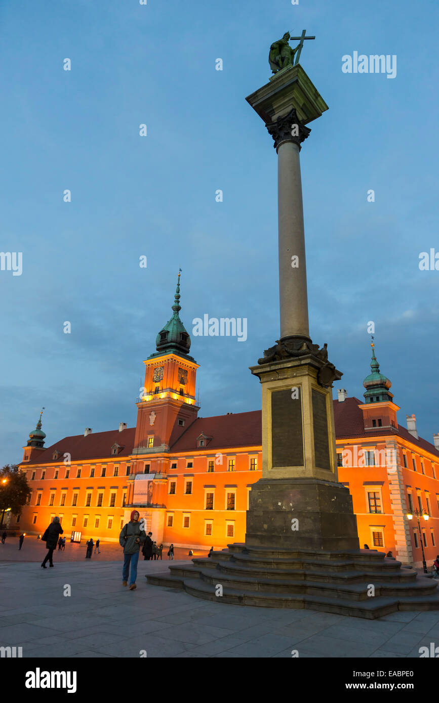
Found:
[(198, 449), (196, 439), (201, 432), (204, 432), (207, 437), (212, 437), (205, 446), (205, 449), (209, 450), (227, 449), (232, 446), (260, 446), (262, 444), (261, 411), (197, 418), (172, 445), (171, 451)]

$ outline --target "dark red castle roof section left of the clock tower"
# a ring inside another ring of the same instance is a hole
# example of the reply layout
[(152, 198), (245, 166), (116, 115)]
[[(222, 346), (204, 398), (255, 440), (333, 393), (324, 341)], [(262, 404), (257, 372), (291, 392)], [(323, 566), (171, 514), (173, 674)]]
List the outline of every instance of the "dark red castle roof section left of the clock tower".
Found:
[[(26, 464), (49, 464), (59, 463), (63, 460), (63, 454), (68, 452), (72, 461), (80, 461), (82, 459), (103, 459), (111, 456), (111, 447), (113, 444), (119, 444), (122, 449), (115, 454), (114, 458), (121, 456), (129, 456), (132, 454), (134, 446), (135, 427), (127, 427), (122, 432), (119, 430), (109, 430), (108, 432), (96, 432), (96, 434), (75, 434), (72, 437), (64, 437), (52, 446), (47, 447), (45, 451), (35, 452), (32, 459)], [(53, 459), (53, 452), (57, 450), (61, 456), (58, 459)]]

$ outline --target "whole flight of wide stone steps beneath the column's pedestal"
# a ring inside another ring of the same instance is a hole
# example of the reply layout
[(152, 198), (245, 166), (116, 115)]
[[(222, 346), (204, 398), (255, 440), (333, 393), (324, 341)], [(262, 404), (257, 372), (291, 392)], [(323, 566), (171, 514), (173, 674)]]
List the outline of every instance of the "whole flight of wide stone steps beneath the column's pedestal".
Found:
[(368, 619), (397, 610), (439, 610), (437, 581), (403, 569), (376, 550), (317, 552), (236, 543), (192, 561), (171, 566), (169, 575), (148, 576), (148, 583), (182, 588), (219, 603), (307, 608)]

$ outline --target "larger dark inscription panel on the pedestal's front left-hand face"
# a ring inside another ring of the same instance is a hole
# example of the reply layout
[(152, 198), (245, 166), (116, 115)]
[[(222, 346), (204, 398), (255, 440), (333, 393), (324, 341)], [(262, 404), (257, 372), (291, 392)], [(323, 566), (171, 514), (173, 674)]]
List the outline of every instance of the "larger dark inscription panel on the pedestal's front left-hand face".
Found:
[(303, 466), (302, 394), (272, 392), (272, 466)]

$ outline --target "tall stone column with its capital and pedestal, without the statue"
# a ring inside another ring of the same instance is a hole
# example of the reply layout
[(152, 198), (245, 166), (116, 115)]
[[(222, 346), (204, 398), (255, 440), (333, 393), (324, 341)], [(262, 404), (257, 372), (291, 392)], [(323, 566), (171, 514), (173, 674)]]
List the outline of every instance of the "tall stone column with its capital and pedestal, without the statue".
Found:
[[(250, 491), (246, 544), (358, 549), (352, 498), (338, 483), (332, 384), (341, 378), (310, 338), (300, 149), (328, 109), (300, 65), (246, 98), (278, 158), (280, 337), (250, 367), (262, 385), (262, 479)], [(295, 529), (292, 527), (293, 521)]]

